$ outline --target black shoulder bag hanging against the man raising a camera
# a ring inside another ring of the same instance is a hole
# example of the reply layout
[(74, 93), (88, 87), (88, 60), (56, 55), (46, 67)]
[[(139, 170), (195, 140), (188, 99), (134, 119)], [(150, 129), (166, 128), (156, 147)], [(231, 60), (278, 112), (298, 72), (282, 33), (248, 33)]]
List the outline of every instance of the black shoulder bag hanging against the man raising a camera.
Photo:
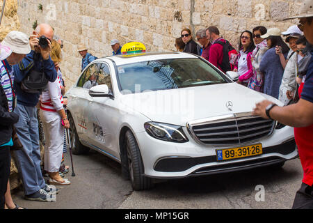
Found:
[[(21, 66), (19, 66), (19, 69), (22, 70)], [(30, 68), (26, 68), (26, 70), (29, 69)], [(49, 80), (47, 79), (44, 72), (43, 63), (40, 71), (35, 70), (32, 64), (31, 70), (26, 75), (26, 77), (22, 79), (21, 89), (26, 93), (41, 93), (46, 88), (48, 82)]]

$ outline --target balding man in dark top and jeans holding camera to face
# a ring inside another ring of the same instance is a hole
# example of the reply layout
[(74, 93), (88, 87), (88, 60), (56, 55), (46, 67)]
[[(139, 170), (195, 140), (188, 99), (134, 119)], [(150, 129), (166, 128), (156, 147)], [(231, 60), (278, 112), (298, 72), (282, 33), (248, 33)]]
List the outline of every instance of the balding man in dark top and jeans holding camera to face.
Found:
[(19, 121), (15, 124), (17, 137), (22, 142), (22, 150), (15, 151), (17, 166), (24, 185), (25, 199), (33, 201), (52, 201), (53, 189), (45, 184), (40, 169), (40, 147), (38, 133), (37, 108), (40, 91), (26, 91), (25, 79), (33, 73), (42, 74), (49, 82), (56, 80), (57, 74), (51, 61), (51, 40), (54, 31), (49, 24), (39, 24), (29, 38), (31, 52), (17, 65), (13, 66), (15, 74), (15, 91), (17, 106), (15, 113)]

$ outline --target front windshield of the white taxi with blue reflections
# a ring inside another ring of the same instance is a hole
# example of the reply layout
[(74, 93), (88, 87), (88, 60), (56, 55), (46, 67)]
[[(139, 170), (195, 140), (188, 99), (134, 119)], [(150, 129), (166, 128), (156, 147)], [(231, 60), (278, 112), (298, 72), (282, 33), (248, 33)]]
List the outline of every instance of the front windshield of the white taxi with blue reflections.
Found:
[(140, 93), (227, 83), (201, 59), (162, 59), (118, 66), (122, 93)]

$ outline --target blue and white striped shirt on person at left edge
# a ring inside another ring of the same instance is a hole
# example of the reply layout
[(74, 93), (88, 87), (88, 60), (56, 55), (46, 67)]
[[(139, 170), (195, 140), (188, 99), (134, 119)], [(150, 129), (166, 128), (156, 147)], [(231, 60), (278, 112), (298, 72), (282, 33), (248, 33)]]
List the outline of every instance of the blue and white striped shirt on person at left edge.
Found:
[[(4, 66), (4, 63), (6, 63), (6, 67)], [(10, 73), (11, 80), (10, 80), (10, 77), (8, 75), (6, 68), (8, 68), (8, 72)], [(8, 64), (8, 61), (6, 60), (3, 60), (0, 62), (0, 79), (1, 79), (1, 85), (2, 85), (3, 91), (4, 93), (6, 93), (6, 98), (8, 99), (9, 112), (13, 112), (14, 76), (13, 76), (13, 69), (11, 68), (11, 66)]]

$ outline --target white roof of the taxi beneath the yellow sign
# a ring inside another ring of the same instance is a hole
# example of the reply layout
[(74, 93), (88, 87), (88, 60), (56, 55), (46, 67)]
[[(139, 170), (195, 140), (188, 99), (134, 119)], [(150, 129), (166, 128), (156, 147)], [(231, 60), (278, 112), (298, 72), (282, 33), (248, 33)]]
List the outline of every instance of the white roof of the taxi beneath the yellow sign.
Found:
[[(159, 59), (184, 59), (184, 58), (197, 58), (197, 56), (188, 53), (181, 52), (147, 52), (144, 54), (131, 55), (131, 56), (107, 56), (103, 59), (110, 59), (114, 61), (117, 66), (125, 65), (129, 63), (137, 63), (142, 61), (152, 61)], [(101, 59), (100, 59), (101, 60)]]

